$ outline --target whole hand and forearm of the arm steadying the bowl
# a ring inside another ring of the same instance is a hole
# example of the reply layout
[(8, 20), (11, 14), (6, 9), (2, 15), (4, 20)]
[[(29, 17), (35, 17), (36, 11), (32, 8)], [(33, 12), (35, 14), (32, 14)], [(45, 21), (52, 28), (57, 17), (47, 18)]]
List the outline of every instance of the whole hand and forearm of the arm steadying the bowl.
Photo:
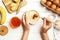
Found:
[(26, 14), (23, 15), (23, 35), (21, 40), (28, 40), (28, 34), (29, 34), (29, 22), (27, 20)]

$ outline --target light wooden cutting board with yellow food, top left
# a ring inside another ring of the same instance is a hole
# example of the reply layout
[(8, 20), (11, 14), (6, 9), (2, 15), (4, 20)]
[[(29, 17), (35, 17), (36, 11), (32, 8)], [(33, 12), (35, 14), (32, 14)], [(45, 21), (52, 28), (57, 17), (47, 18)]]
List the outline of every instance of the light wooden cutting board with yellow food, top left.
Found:
[[(5, 7), (6, 7), (6, 9), (7, 9), (7, 11), (9, 12), (9, 13), (12, 13), (12, 12), (14, 12), (14, 11), (16, 11), (16, 10), (11, 10), (11, 4), (13, 4), (14, 2), (12, 2), (12, 0), (2, 0), (3, 1), (3, 3), (4, 3), (4, 5), (5, 5)], [(20, 2), (20, 1), (19, 1)], [(18, 8), (18, 6), (19, 6), (19, 2), (17, 2), (17, 3), (14, 3), (16, 6), (16, 9)], [(12, 7), (14, 7), (14, 5), (12, 6)]]

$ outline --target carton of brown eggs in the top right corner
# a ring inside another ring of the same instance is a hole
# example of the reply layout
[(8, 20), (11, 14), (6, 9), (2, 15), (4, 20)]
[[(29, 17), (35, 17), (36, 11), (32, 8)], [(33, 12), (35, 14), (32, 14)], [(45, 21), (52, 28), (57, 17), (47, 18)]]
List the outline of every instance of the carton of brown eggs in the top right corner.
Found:
[(60, 0), (41, 0), (40, 3), (52, 12), (60, 15)]

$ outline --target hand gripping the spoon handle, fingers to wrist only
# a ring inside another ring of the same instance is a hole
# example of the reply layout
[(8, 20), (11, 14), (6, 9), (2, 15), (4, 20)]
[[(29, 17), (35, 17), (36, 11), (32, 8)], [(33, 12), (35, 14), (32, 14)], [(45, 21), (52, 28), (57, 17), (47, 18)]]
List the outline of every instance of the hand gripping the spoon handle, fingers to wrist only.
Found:
[(43, 26), (41, 28), (41, 32), (46, 33), (52, 26), (52, 23), (49, 19), (43, 18)]

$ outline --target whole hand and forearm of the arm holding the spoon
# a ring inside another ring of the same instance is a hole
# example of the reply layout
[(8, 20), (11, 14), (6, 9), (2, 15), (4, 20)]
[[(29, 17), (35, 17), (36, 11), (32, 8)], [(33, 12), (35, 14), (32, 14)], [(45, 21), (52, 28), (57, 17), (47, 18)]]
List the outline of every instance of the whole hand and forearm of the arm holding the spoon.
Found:
[(41, 28), (42, 40), (49, 40), (47, 31), (51, 28), (52, 23), (49, 19), (43, 18), (43, 26)]

